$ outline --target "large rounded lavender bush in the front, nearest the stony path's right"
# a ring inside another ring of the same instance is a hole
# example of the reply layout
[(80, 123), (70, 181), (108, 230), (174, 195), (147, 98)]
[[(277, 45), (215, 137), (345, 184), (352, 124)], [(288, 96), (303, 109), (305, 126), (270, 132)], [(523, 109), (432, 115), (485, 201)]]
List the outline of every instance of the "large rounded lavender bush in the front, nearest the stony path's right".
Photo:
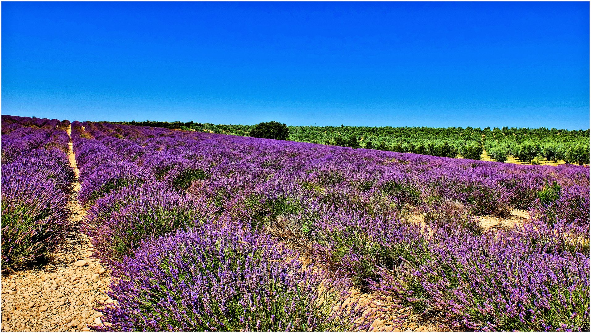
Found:
[(145, 242), (113, 272), (112, 331), (347, 331), (363, 307), (333, 309), (350, 285), (234, 223)]

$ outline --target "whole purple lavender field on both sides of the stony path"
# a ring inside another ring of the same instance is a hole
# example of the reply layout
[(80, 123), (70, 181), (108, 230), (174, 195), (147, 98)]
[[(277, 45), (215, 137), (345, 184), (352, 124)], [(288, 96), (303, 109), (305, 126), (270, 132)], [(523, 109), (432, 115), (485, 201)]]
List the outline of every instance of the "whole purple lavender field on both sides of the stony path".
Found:
[(588, 167), (3, 115), (3, 274), (74, 228), (97, 331), (589, 331)]

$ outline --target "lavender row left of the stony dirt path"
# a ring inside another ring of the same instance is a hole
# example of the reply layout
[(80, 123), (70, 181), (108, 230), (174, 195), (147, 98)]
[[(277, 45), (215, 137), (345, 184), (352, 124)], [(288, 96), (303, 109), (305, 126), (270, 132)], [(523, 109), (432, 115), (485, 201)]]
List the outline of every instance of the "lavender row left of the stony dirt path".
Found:
[(71, 227), (70, 122), (2, 115), (2, 269), (54, 252)]

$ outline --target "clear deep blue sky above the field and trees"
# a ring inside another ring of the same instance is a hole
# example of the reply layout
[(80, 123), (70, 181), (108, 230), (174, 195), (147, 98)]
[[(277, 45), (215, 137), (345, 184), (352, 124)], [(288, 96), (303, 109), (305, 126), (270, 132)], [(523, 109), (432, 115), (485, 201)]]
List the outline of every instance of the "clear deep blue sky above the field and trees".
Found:
[(589, 2), (2, 2), (2, 113), (589, 128)]

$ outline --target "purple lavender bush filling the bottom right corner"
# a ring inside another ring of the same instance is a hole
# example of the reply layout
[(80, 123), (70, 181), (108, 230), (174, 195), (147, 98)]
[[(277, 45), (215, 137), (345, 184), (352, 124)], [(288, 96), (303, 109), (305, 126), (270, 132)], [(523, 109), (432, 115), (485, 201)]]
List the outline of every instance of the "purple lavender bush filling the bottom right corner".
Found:
[(392, 292), (411, 295), (409, 302), (446, 314), (455, 329), (589, 329), (586, 254), (548, 249), (519, 230), (434, 236), (426, 262), (409, 272), (418, 288), (384, 276), (382, 290), (389, 282)]

